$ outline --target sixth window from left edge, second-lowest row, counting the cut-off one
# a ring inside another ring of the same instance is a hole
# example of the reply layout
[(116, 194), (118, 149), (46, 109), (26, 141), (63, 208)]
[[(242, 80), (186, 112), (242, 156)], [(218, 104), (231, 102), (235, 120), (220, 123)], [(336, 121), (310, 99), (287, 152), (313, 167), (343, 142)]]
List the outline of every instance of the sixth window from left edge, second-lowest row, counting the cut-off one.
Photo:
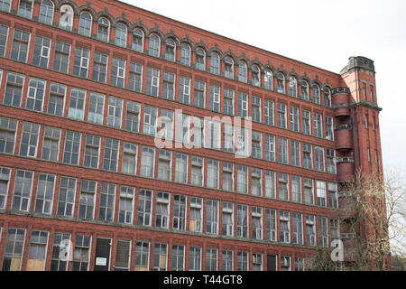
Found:
[(115, 219), (115, 184), (101, 183), (98, 219), (105, 222)]

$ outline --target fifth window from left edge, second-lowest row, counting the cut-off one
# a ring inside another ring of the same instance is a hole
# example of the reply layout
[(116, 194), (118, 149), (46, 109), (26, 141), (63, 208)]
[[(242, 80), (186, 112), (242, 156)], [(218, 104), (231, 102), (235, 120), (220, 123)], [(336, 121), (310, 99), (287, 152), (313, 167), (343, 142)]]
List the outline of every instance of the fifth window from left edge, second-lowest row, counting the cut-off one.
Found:
[(80, 199), (78, 218), (94, 219), (97, 182), (82, 180), (80, 185)]

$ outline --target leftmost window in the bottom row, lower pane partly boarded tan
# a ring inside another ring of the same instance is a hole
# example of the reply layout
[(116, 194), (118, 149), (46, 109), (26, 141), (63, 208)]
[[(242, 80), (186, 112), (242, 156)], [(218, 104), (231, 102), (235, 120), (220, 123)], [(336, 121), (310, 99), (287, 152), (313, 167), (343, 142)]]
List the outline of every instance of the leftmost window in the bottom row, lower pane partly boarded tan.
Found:
[(3, 257), (2, 271), (21, 271), (25, 229), (8, 228), (5, 238), (5, 255)]

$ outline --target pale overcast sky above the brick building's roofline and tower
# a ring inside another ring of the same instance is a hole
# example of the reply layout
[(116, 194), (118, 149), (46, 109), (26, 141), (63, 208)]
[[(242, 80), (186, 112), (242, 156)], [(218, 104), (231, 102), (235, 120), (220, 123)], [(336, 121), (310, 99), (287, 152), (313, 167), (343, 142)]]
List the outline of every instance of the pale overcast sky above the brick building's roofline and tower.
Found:
[(383, 166), (406, 168), (406, 1), (122, 0), (156, 14), (339, 72), (374, 61)]

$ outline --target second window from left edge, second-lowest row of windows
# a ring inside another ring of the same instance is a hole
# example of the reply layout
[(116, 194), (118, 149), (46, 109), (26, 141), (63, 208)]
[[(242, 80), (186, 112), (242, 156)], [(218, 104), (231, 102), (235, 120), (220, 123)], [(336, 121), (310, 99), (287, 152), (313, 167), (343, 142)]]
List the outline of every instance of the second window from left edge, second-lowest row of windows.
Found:
[(14, 182), (12, 210), (30, 210), (33, 172), (17, 170)]

